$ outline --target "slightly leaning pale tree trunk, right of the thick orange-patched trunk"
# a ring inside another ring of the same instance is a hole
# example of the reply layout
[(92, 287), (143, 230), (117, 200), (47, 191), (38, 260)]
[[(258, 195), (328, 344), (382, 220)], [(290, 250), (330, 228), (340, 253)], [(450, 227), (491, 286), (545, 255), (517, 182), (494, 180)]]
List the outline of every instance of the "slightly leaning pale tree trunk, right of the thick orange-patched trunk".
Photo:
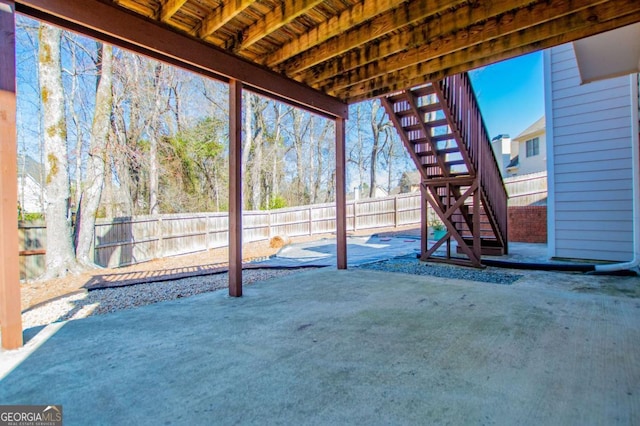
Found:
[(112, 49), (102, 45), (98, 56), (101, 63), (98, 72), (96, 105), (91, 127), (91, 143), (87, 160), (87, 178), (82, 190), (77, 217), (78, 242), (76, 259), (84, 266), (93, 266), (92, 246), (96, 214), (104, 187), (105, 157), (109, 127), (111, 124)]

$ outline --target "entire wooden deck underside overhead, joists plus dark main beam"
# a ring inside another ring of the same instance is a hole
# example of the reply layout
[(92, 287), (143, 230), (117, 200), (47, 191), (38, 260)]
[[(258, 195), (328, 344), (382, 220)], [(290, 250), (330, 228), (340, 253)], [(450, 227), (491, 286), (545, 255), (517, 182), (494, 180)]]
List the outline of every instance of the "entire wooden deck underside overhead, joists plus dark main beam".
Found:
[(196, 67), (209, 56), (209, 72), (285, 98), (300, 92), (302, 104), (320, 109), (331, 102), (302, 93), (307, 87), (352, 103), (640, 20), (636, 0), (18, 0), (16, 7), (170, 50)]

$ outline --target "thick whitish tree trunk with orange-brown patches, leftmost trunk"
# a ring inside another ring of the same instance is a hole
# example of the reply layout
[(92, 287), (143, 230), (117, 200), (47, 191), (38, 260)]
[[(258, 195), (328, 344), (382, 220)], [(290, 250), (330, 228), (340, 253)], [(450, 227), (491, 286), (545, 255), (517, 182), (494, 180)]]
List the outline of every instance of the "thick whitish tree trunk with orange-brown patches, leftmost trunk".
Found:
[(42, 99), (45, 155), (45, 220), (47, 228), (45, 278), (78, 270), (71, 232), (67, 123), (60, 63), (61, 30), (41, 25), (38, 77)]

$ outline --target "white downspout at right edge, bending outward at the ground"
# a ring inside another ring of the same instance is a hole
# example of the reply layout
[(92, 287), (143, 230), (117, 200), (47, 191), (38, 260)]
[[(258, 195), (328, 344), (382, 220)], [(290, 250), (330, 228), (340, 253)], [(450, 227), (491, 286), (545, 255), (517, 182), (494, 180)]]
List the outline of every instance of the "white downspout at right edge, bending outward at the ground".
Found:
[(596, 265), (597, 272), (615, 272), (635, 269), (640, 265), (640, 131), (638, 108), (638, 74), (631, 77), (631, 173), (633, 192), (633, 258), (629, 262)]

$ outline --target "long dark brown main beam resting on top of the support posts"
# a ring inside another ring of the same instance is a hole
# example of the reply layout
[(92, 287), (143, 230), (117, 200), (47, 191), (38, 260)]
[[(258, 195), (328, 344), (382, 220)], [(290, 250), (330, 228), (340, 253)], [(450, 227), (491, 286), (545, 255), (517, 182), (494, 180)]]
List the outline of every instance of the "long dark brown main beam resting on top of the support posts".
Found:
[(100, 0), (18, 0), (20, 13), (222, 81), (235, 79), (329, 117), (348, 106), (278, 73)]

